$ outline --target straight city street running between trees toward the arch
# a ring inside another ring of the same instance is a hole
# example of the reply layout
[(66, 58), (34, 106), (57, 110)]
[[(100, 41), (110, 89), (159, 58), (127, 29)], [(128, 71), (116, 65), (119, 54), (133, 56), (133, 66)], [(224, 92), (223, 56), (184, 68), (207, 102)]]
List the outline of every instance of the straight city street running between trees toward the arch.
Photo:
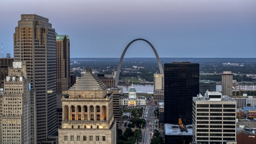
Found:
[[(152, 134), (155, 130), (156, 117), (155, 117), (154, 111), (155, 111), (156, 106), (155, 105), (151, 106), (151, 100), (153, 100), (153, 98), (149, 98), (148, 103), (147, 103), (147, 108), (148, 108), (147, 120), (146, 120), (146, 124), (144, 126), (144, 130), (142, 130), (141, 143), (145, 143), (145, 144), (150, 143)], [(146, 116), (146, 114), (145, 114), (145, 116)], [(151, 126), (149, 126), (149, 123), (151, 124)]]

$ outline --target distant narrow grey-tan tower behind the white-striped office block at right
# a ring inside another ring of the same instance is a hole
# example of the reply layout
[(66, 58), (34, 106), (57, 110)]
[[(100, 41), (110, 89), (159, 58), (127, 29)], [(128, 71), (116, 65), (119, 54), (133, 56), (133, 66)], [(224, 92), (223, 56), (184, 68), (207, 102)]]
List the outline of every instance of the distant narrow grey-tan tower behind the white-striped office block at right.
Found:
[(222, 95), (233, 95), (232, 93), (232, 82), (233, 73), (231, 71), (223, 71), (222, 75)]

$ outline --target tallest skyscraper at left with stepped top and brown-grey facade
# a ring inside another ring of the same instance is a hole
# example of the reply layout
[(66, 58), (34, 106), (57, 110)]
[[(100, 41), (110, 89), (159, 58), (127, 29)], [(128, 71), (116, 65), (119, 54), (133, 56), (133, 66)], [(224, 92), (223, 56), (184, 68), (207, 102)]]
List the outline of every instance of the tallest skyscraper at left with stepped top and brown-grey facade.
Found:
[(13, 34), (14, 61), (27, 66), (31, 89), (35, 90), (36, 133), (31, 142), (41, 143), (56, 129), (56, 38), (49, 19), (36, 14), (21, 14)]

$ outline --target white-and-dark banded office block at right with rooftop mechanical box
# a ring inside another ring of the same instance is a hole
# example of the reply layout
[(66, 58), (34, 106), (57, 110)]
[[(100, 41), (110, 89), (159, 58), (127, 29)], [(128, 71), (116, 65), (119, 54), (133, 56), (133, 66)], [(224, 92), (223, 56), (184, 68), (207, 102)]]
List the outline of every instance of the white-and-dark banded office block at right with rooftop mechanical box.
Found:
[(236, 101), (221, 92), (193, 98), (193, 142), (236, 141)]

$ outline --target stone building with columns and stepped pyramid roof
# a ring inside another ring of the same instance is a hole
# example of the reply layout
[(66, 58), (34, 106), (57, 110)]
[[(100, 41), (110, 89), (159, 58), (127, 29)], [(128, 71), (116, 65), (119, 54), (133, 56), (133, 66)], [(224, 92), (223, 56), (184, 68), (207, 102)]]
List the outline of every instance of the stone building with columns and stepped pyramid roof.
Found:
[(63, 91), (59, 143), (116, 143), (113, 94), (97, 75), (86, 74), (68, 91)]

